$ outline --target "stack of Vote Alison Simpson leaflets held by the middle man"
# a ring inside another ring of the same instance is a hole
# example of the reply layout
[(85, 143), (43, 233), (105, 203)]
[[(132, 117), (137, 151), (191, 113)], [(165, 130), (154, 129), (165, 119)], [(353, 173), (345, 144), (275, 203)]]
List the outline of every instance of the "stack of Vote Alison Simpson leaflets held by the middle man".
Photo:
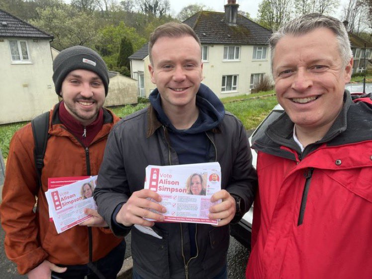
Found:
[(218, 220), (208, 218), (209, 207), (221, 202), (210, 201), (211, 196), (221, 189), (221, 169), (217, 162), (149, 165), (145, 188), (162, 196), (160, 204), (167, 208), (167, 212), (160, 214), (164, 215), (165, 222), (218, 224)]

